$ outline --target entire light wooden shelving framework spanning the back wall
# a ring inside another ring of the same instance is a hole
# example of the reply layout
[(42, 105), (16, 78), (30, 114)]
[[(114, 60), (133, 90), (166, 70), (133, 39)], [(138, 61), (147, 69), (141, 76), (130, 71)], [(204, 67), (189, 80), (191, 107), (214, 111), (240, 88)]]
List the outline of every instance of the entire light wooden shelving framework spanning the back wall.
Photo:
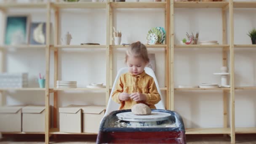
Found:
[[(46, 11), (46, 45), (0, 45), (0, 56), (3, 55), (3, 50), (8, 48), (45, 48), (45, 63), (46, 63), (46, 83), (45, 88), (0, 88), (0, 94), (3, 91), (45, 91), (45, 143), (49, 143), (49, 136), (55, 134), (96, 134), (96, 133), (63, 133), (59, 132), (57, 128), (57, 113), (58, 113), (58, 91), (103, 91), (105, 97), (105, 104), (107, 105), (109, 93), (113, 84), (113, 51), (116, 48), (127, 48), (127, 45), (113, 45), (112, 44), (112, 27), (113, 27), (113, 9), (115, 8), (164, 8), (165, 9), (165, 30), (166, 40), (163, 45), (146, 45), (147, 48), (164, 48), (165, 49), (165, 87), (160, 88), (161, 91), (166, 91), (166, 106), (167, 109), (174, 109), (175, 91), (223, 91), (223, 128), (187, 128), (186, 134), (229, 134), (231, 136), (231, 143), (235, 143), (235, 133), (256, 133), (256, 128), (235, 128), (235, 90), (256, 90), (256, 87), (235, 87), (234, 81), (234, 48), (256, 48), (256, 45), (234, 45), (234, 24), (233, 24), (233, 10), (234, 8), (256, 8), (256, 2), (233, 2), (228, 0), (224, 2), (174, 2), (174, 0), (165, 0), (163, 2), (113, 2), (107, 0), (105, 2), (78, 2), (78, 3), (63, 3), (50, 2), (47, 3), (1, 3), (0, 10), (6, 14), (11, 8), (43, 8)], [(59, 14), (61, 9), (68, 8), (93, 8), (105, 9), (107, 16), (107, 32), (105, 45), (60, 45), (59, 37)], [(222, 11), (222, 44), (220, 45), (175, 45), (174, 44), (174, 9), (175, 8), (219, 8)], [(54, 11), (54, 44), (50, 45), (50, 22), (51, 10)], [(229, 43), (227, 43), (226, 36), (226, 12), (229, 13)], [(102, 48), (106, 51), (106, 88), (56, 88), (56, 80), (58, 79), (58, 50), (61, 48)], [(230, 72), (230, 88), (174, 88), (174, 50), (179, 48), (222, 48), (223, 50), (223, 66), (227, 66), (227, 53), (229, 52), (229, 72)], [(49, 70), (50, 70), (50, 50), (54, 51), (54, 88), (49, 88)], [(0, 57), (1, 60), (3, 58)], [(2, 60), (3, 62), (3, 60)], [(0, 64), (0, 72), (4, 72), (3, 64)], [(53, 127), (49, 128), (49, 95), (53, 93)], [(230, 96), (230, 128), (227, 128), (227, 98)], [(2, 101), (0, 101), (2, 102)], [(3, 133), (3, 134), (27, 134), (24, 132), (17, 133)], [(30, 133), (29, 133), (30, 134)]]

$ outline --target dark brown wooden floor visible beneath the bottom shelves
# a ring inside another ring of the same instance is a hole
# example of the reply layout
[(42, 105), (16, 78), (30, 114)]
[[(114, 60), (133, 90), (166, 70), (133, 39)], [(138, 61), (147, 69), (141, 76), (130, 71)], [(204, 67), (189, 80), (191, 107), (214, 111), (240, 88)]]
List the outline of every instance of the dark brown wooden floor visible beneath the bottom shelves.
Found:
[[(187, 135), (187, 144), (230, 144), (230, 137), (223, 135)], [(58, 135), (51, 138), (50, 144), (95, 144), (96, 135), (74, 136)], [(237, 144), (256, 144), (256, 134), (237, 134)], [(38, 135), (8, 135), (4, 136), (0, 144), (44, 144), (44, 137)]]

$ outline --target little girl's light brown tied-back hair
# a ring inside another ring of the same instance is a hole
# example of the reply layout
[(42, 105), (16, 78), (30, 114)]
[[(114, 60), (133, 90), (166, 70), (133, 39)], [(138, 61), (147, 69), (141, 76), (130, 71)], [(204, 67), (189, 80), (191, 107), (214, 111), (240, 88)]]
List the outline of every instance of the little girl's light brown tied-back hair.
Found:
[(125, 62), (127, 62), (128, 56), (141, 57), (145, 62), (149, 62), (149, 56), (147, 55), (147, 48), (140, 41), (132, 43), (126, 50)]

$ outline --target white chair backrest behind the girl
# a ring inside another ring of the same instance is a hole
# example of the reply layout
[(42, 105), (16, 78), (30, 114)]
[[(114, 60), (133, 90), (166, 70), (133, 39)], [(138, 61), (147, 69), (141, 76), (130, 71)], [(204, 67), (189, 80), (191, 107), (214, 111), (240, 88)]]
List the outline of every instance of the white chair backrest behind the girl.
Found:
[[(112, 87), (112, 90), (111, 90), (111, 93), (110, 93), (110, 96), (109, 96), (109, 101), (108, 101), (107, 109), (106, 109), (106, 112), (105, 112), (104, 116), (108, 115), (112, 111), (118, 110), (118, 108), (120, 107), (120, 104), (117, 104), (115, 101), (113, 101), (111, 99), (111, 96), (112, 96), (113, 91), (115, 90), (115, 85), (116, 85), (120, 75), (122, 75), (123, 73), (126, 73), (126, 72), (128, 72), (128, 67), (123, 67), (123, 68), (119, 69), (119, 71), (117, 72), (117, 76), (115, 77), (115, 81), (114, 81), (114, 84), (113, 84), (113, 87)], [(163, 103), (163, 97), (162, 97), (162, 94), (161, 94), (161, 91), (160, 91), (160, 87), (158, 85), (157, 78), (155, 76), (154, 71), (151, 68), (149, 68), (149, 67), (145, 67), (145, 72), (148, 75), (150, 75), (151, 77), (154, 78), (155, 85), (157, 86), (157, 91), (158, 91), (158, 93), (161, 96), (161, 100), (157, 104), (155, 104), (155, 107), (157, 109), (165, 109), (165, 105)]]

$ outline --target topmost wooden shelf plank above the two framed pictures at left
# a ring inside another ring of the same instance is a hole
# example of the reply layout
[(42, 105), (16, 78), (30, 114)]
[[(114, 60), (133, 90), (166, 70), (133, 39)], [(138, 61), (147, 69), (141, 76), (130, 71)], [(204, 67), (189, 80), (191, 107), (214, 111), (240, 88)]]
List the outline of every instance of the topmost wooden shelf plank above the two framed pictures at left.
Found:
[(0, 3), (0, 8), (46, 8), (46, 3)]

